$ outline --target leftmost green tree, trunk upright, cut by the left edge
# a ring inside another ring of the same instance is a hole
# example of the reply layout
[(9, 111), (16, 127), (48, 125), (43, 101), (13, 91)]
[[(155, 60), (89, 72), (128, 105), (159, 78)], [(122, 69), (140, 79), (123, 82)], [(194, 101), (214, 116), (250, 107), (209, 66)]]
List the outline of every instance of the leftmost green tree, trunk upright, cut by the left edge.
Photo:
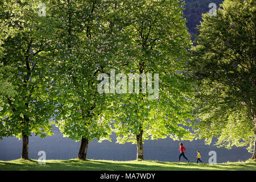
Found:
[[(47, 2), (46, 2), (47, 3)], [(22, 158), (28, 159), (31, 133), (52, 134), (53, 89), (49, 41), (55, 22), (39, 16), (40, 1), (1, 1), (1, 137), (22, 138)], [(3, 80), (2, 80), (3, 79)]]

